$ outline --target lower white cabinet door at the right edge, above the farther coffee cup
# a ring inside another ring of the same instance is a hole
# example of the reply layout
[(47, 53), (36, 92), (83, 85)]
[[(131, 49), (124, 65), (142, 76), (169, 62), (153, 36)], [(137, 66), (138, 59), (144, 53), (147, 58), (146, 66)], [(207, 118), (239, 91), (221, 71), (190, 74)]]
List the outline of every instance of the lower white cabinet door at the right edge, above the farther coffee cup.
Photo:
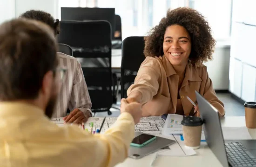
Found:
[(255, 102), (256, 67), (243, 64), (242, 96), (246, 102)]

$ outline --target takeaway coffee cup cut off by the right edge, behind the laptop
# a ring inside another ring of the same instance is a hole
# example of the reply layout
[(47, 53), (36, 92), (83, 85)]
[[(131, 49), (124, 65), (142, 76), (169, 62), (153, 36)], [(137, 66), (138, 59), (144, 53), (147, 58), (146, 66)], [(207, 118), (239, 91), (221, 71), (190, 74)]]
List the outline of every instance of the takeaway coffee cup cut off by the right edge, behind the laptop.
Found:
[(256, 102), (245, 102), (245, 125), (247, 128), (256, 128)]

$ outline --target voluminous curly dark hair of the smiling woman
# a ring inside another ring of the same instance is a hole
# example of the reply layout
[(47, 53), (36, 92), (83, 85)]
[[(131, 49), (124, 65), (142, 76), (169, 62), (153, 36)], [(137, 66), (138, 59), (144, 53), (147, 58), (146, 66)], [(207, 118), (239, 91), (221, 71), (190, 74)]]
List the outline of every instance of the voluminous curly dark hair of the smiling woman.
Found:
[(159, 57), (164, 54), (163, 37), (166, 28), (171, 25), (183, 26), (189, 32), (191, 38), (190, 64), (202, 64), (207, 60), (212, 60), (216, 41), (211, 35), (209, 23), (202, 14), (188, 7), (169, 10), (159, 25), (149, 31), (148, 37), (145, 37), (144, 55), (146, 57)]

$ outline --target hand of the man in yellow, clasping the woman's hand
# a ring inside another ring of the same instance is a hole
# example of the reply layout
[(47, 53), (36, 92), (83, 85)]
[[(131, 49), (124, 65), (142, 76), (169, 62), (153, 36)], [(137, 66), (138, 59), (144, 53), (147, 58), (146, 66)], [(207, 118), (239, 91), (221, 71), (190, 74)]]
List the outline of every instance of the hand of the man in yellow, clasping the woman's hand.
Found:
[(141, 111), (141, 104), (136, 102), (128, 103), (125, 98), (121, 99), (121, 113), (128, 112), (130, 113), (133, 118), (135, 124), (140, 122), (142, 111)]

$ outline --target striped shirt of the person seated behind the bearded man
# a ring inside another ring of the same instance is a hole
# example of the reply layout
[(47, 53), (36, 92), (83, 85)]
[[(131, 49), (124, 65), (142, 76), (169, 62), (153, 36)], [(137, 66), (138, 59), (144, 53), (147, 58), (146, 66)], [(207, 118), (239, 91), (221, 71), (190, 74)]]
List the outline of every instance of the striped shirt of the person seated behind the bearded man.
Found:
[(66, 69), (66, 74), (61, 84), (61, 91), (57, 97), (56, 107), (52, 117), (66, 116), (67, 109), (73, 111), (80, 109), (84, 115), (92, 113), (91, 99), (85, 82), (81, 64), (76, 58), (64, 53), (57, 53), (60, 68)]

